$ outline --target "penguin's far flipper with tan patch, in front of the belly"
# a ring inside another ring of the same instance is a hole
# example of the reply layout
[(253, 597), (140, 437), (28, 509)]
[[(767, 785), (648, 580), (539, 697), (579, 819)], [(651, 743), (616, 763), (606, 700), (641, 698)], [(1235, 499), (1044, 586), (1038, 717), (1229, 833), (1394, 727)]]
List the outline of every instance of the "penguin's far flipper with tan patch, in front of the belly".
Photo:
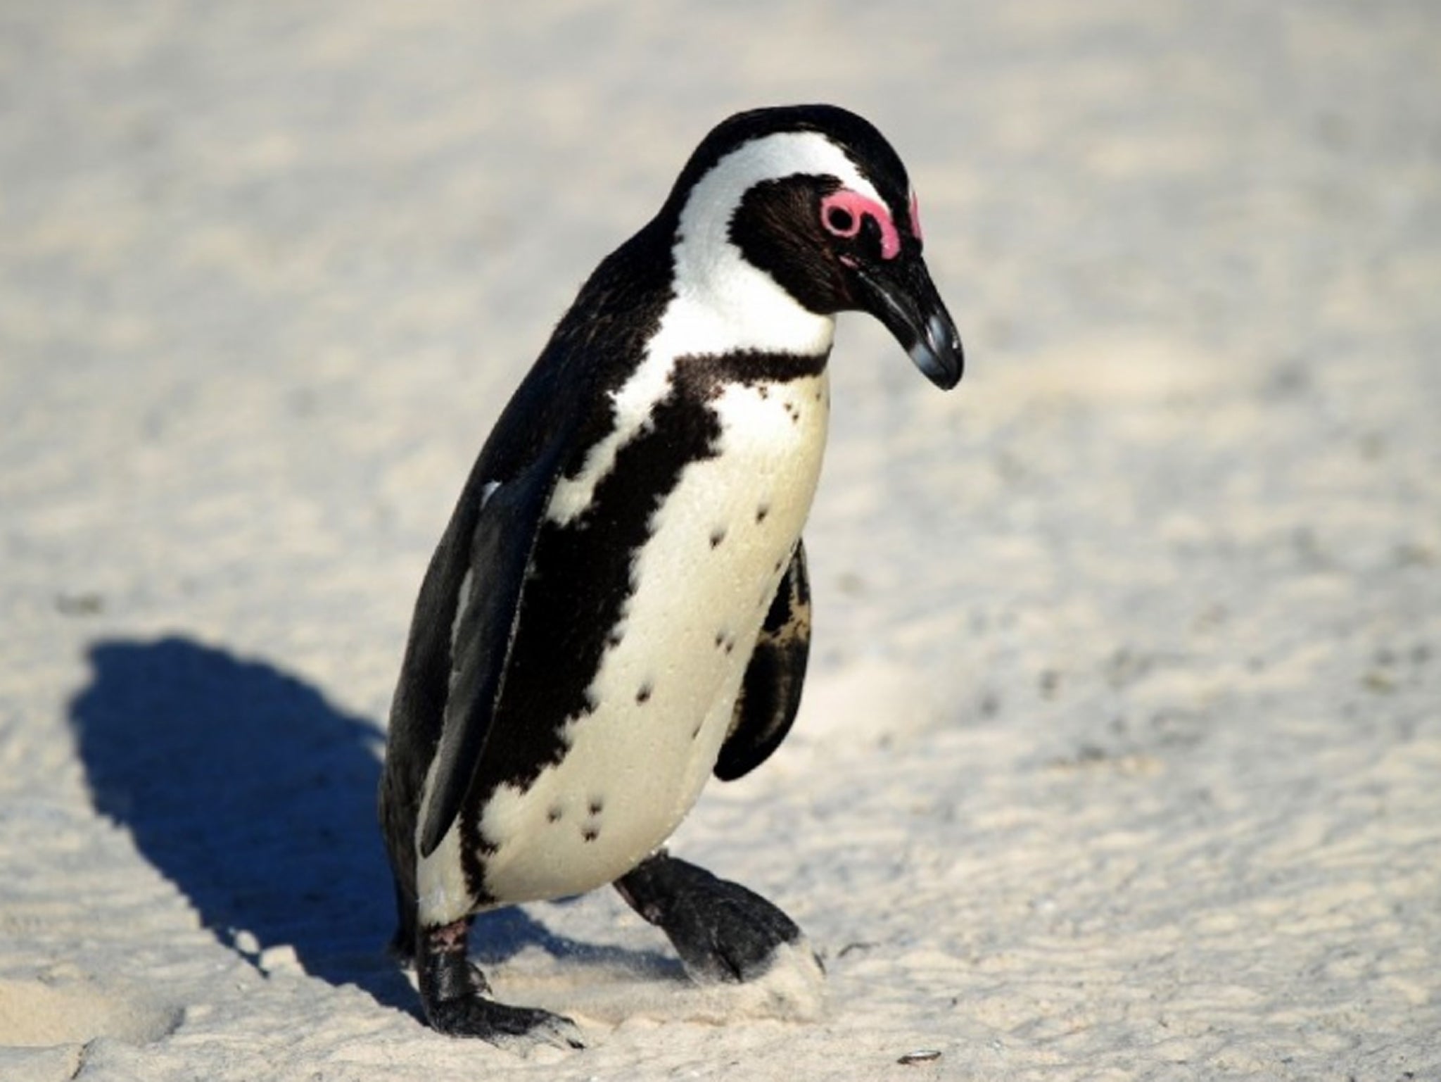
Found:
[(735, 701), (731, 731), (720, 746), (715, 775), (733, 782), (769, 759), (795, 720), (810, 656), (810, 579), (806, 574), (806, 545), (795, 554), (775, 587), (745, 681)]

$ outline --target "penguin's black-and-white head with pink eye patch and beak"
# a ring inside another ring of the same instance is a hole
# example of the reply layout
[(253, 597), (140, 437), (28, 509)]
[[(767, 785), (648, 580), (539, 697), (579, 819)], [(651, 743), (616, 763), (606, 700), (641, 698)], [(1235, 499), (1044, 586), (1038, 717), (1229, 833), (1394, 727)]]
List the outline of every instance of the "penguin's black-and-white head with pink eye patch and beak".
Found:
[(921, 257), (905, 166), (855, 113), (738, 113), (696, 147), (667, 212), (677, 290), (739, 303), (761, 277), (817, 316), (869, 312), (931, 382), (960, 381), (960, 335)]

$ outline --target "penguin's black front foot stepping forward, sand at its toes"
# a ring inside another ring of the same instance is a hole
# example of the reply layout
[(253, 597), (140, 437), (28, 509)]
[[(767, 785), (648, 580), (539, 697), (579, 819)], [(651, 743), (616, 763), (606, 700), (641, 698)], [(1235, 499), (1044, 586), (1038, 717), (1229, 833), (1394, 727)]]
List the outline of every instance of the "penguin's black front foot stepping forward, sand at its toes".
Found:
[(795, 922), (755, 892), (664, 850), (615, 880), (615, 889), (666, 933), (696, 981), (755, 980), (781, 946), (801, 939)]

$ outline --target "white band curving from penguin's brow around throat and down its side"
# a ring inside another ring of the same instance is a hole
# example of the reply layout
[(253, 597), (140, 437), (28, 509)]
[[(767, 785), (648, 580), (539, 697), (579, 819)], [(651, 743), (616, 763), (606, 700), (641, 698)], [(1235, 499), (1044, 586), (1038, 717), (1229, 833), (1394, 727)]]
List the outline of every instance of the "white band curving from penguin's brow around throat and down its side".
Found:
[(742, 143), (712, 166), (680, 211), (672, 250), (676, 297), (666, 306), (644, 361), (611, 394), (615, 428), (591, 447), (579, 475), (556, 485), (548, 508), (550, 521), (563, 525), (589, 506), (617, 452), (640, 433), (656, 403), (669, 392), (677, 358), (830, 352), (836, 320), (803, 307), (769, 274), (748, 263), (729, 235), (731, 219), (751, 188), (797, 175), (834, 176), (885, 205), (844, 151), (816, 131), (764, 136)]

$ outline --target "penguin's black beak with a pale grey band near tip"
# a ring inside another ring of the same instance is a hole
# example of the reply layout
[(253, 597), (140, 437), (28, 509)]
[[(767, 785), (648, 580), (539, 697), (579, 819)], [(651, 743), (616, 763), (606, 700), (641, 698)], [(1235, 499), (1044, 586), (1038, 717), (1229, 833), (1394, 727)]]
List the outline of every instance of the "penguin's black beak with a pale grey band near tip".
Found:
[(927, 379), (942, 391), (955, 387), (965, 368), (961, 336), (931, 281), (919, 245), (893, 260), (857, 261), (853, 271), (860, 307), (895, 335)]

